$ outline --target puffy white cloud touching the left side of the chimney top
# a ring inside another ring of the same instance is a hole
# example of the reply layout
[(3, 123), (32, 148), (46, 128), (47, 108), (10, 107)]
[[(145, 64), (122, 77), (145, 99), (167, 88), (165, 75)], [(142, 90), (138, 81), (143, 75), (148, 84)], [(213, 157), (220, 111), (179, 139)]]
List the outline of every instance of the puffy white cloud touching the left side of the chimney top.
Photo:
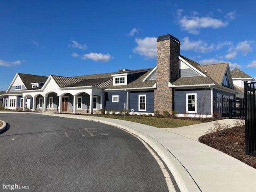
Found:
[(155, 37), (146, 37), (144, 39), (136, 38), (135, 42), (138, 44), (133, 49), (134, 53), (138, 53), (140, 56), (146, 59), (152, 59), (156, 57), (156, 40)]

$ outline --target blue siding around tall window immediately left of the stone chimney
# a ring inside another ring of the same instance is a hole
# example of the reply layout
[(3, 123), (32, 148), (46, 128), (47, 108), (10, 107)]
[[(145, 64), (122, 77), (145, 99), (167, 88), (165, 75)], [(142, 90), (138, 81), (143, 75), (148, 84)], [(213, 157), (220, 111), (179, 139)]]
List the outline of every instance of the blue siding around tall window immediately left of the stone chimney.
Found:
[(146, 112), (154, 112), (154, 91), (140, 91), (140, 92), (130, 92), (130, 106), (129, 110), (133, 109), (134, 112), (144, 112), (139, 111), (139, 95), (146, 95)]

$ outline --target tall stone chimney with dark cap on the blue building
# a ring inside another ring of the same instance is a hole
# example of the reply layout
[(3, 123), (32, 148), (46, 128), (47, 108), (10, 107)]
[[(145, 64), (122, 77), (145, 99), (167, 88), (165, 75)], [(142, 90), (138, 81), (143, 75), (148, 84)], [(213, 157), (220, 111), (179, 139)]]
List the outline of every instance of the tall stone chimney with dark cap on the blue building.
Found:
[(157, 38), (156, 90), (154, 90), (154, 110), (172, 113), (173, 90), (168, 83), (178, 79), (180, 41), (168, 34)]

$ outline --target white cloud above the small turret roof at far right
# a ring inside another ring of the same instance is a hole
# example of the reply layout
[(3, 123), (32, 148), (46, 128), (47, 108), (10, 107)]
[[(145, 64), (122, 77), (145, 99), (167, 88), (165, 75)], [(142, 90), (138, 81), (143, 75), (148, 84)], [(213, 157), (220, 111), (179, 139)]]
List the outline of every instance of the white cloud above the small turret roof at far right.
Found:
[(226, 59), (234, 59), (236, 58), (238, 52), (242, 52), (242, 54), (245, 56), (248, 53), (252, 52), (251, 44), (254, 41), (243, 41), (237, 44), (236, 47), (230, 47), (228, 50), (228, 54), (226, 54)]

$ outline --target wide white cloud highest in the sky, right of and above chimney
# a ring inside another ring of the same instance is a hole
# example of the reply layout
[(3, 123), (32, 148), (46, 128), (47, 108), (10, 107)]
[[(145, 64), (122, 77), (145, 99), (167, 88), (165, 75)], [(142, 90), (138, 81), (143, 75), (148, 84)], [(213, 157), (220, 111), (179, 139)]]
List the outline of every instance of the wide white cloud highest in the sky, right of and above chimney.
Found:
[(182, 30), (186, 30), (192, 34), (199, 34), (200, 28), (221, 28), (228, 25), (228, 22), (224, 22), (221, 19), (214, 19), (210, 16), (198, 17), (198, 16), (182, 16), (183, 10), (178, 10), (178, 22)]

